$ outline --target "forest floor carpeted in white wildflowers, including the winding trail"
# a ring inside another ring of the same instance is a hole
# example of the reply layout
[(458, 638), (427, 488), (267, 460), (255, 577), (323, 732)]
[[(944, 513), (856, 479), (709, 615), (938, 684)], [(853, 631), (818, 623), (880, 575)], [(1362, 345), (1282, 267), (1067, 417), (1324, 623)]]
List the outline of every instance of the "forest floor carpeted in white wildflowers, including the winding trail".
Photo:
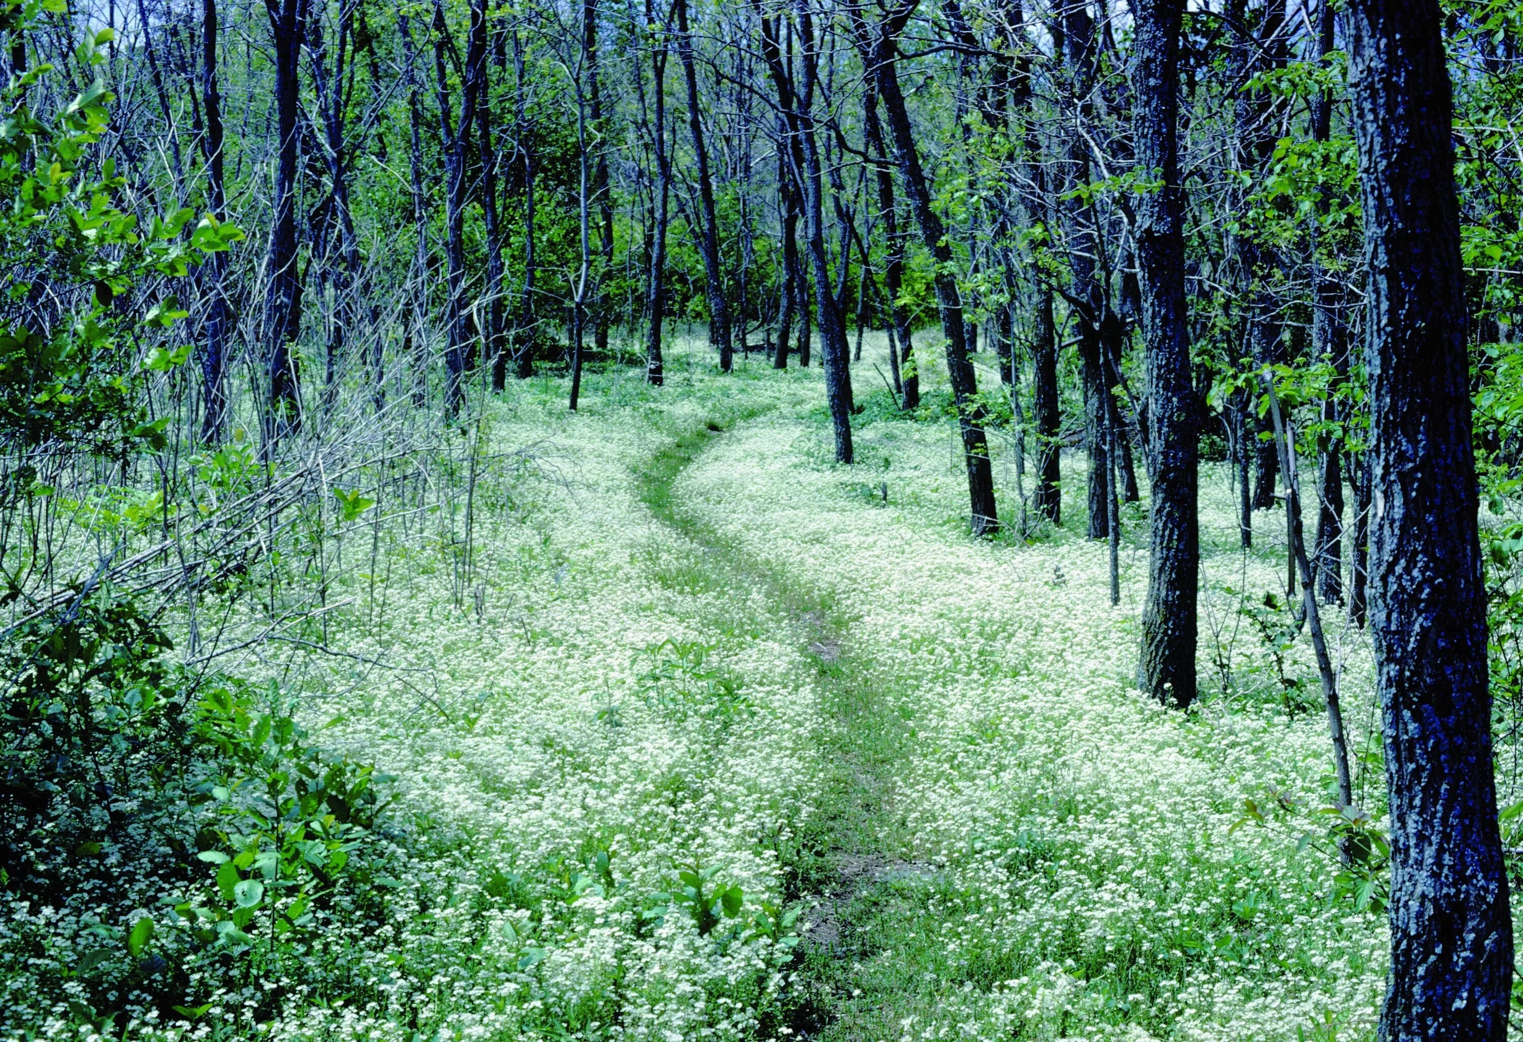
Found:
[[(880, 352), (850, 468), (818, 369), (760, 358), (720, 376), (676, 350), (663, 388), (592, 372), (576, 414), (554, 378), (493, 405), (519, 465), (477, 494), (469, 571), (436, 515), (385, 550), (384, 625), (334, 623), (387, 669), (286, 669), (314, 713), (341, 705), (335, 745), (398, 775), (410, 839), (391, 923), (323, 955), (346, 1005), (292, 1002), (263, 1033), (1372, 1034), (1384, 923), (1320, 841), (1282, 524), (1260, 515), (1240, 551), (1208, 472), (1208, 690), (1165, 710), (1130, 684), (1141, 509), (1115, 608), (1077, 454), (1062, 527), (970, 539), (944, 379), (926, 364), (931, 405), (903, 416)], [(995, 455), (1014, 523), (998, 433)], [(1368, 655), (1334, 629), (1374, 803)]]

